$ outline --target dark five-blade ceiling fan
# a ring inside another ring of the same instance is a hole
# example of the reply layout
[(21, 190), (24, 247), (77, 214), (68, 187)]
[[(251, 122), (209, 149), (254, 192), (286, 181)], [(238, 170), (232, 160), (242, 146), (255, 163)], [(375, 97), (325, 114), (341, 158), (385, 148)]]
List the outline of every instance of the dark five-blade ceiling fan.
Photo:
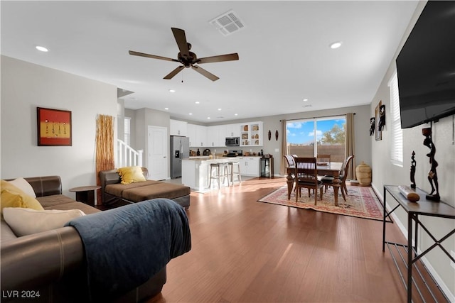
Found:
[(159, 60), (166, 60), (166, 61), (173, 61), (173, 62), (180, 62), (182, 64), (181, 66), (177, 67), (172, 72), (169, 72), (168, 75), (166, 75), (163, 79), (172, 79), (175, 75), (178, 74), (178, 72), (181, 72), (181, 70), (183, 70), (183, 67), (187, 67), (187, 68), (191, 67), (193, 70), (196, 70), (196, 72), (200, 73), (200, 75), (208, 77), (208, 79), (210, 79), (212, 81), (216, 81), (220, 78), (218, 78), (215, 75), (213, 75), (212, 73), (204, 70), (202, 67), (199, 67), (198, 65), (203, 64), (203, 63), (239, 60), (239, 55), (237, 53), (198, 58), (195, 53), (190, 52), (191, 44), (186, 42), (185, 31), (183, 31), (180, 28), (171, 28), (171, 30), (172, 30), (174, 38), (176, 38), (178, 50), (180, 50), (180, 52), (177, 54), (177, 59), (161, 57), (161, 56), (157, 56), (157, 55), (150, 55), (150, 54), (146, 54), (146, 53), (139, 53), (139, 52), (135, 52), (133, 50), (129, 50), (129, 52), (128, 52), (129, 55), (149, 57), (152, 59), (159, 59)]

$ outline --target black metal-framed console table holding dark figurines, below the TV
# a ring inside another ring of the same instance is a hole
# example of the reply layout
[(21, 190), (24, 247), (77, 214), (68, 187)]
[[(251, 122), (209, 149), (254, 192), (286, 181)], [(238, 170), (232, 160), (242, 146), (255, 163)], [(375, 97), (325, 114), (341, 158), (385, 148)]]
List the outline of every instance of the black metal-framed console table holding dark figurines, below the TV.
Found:
[[(386, 197), (387, 197), (387, 192), (392, 196), (393, 199), (395, 199), (396, 202), (398, 202), (397, 206), (393, 208), (390, 212), (387, 213), (386, 210)], [(444, 202), (434, 202), (427, 200), (426, 192), (422, 191), (422, 189), (415, 189), (415, 192), (419, 194), (419, 201), (417, 202), (410, 202), (408, 199), (406, 199), (405, 196), (403, 196), (398, 187), (394, 185), (385, 185), (384, 186), (384, 219), (382, 221), (382, 252), (385, 252), (385, 246), (387, 245), (387, 248), (391, 250), (392, 254), (392, 249), (396, 246), (401, 246), (404, 247), (407, 250), (407, 281), (405, 282), (403, 275), (400, 271), (400, 267), (397, 264), (397, 260), (395, 260), (395, 257), (392, 255), (392, 258), (395, 262), (395, 265), (400, 272), (400, 276), (402, 277), (402, 282), (405, 285), (405, 288), (407, 290), (407, 302), (412, 302), (412, 267), (414, 266), (414, 263), (417, 262), (417, 260), (420, 260), (424, 255), (426, 255), (430, 250), (433, 248), (439, 247), (441, 250), (444, 251), (444, 253), (453, 261), (455, 262), (455, 259), (450, 255), (450, 253), (441, 246), (441, 243), (446, 240), (446, 238), (449, 238), (455, 233), (455, 228), (452, 229), (451, 231), (447, 232), (445, 236), (443, 236), (440, 239), (435, 238), (431, 231), (424, 226), (422, 221), (419, 220), (419, 216), (434, 216), (434, 217), (439, 217), (439, 218), (446, 218), (446, 219), (455, 219), (455, 208), (450, 206), (449, 204), (446, 204)], [(393, 242), (388, 242), (385, 241), (385, 223), (387, 217), (392, 214), (395, 209), (398, 207), (402, 207), (405, 209), (407, 212), (407, 245), (405, 244), (399, 244), (399, 243), (393, 243)], [(412, 223), (414, 222), (414, 231), (412, 228)], [(428, 236), (430, 236), (434, 244), (432, 246), (429, 246), (427, 250), (424, 250), (420, 255), (417, 253), (417, 243), (418, 243), (418, 228), (422, 227), (422, 229), (427, 233)], [(414, 246), (412, 246), (412, 239), (414, 238)], [(419, 291), (417, 285), (416, 289)], [(439, 286), (438, 286), (439, 287)], [(432, 293), (431, 290), (429, 292)], [(419, 291), (420, 293), (420, 291)], [(433, 294), (433, 293), (432, 293)], [(445, 297), (445, 295), (444, 295)], [(447, 299), (447, 298), (446, 298)], [(449, 302), (449, 299), (447, 299), (447, 302)]]

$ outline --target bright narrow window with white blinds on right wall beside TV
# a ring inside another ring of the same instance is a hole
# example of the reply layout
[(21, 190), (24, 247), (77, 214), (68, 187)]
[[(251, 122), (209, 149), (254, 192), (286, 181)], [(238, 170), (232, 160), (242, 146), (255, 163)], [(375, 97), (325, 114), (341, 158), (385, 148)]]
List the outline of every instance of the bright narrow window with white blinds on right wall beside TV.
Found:
[(393, 165), (403, 167), (403, 131), (401, 129), (400, 96), (398, 94), (398, 77), (396, 71), (390, 79), (388, 86), (390, 87), (390, 120), (392, 120), (390, 161)]

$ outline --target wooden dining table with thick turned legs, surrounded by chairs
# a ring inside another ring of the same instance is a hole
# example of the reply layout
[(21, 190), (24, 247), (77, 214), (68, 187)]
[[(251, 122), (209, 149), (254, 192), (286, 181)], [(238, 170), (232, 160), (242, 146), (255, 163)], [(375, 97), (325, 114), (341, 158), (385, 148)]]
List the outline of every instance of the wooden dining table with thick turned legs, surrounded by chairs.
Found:
[[(334, 204), (335, 206), (338, 206), (338, 189), (340, 189), (340, 180), (337, 178), (340, 175), (340, 170), (341, 166), (343, 163), (341, 162), (330, 162), (330, 163), (316, 163), (316, 170), (318, 171), (318, 176), (333, 176), (333, 182), (332, 183), (327, 183), (331, 187), (333, 187), (333, 193), (334, 193)], [(296, 167), (294, 166), (288, 166), (286, 168), (287, 170), (287, 199), (291, 199), (291, 192), (292, 189), (294, 188), (294, 173), (296, 170)]]

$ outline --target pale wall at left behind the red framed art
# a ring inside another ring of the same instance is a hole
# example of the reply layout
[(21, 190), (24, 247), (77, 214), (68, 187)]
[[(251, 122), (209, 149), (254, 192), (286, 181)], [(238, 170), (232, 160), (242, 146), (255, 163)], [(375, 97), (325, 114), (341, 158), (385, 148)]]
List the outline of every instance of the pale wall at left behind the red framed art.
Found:
[[(72, 146), (37, 145), (37, 106), (72, 112)], [(98, 114), (117, 116), (116, 87), (1, 56), (1, 178), (60, 175), (74, 198), (96, 181)]]

